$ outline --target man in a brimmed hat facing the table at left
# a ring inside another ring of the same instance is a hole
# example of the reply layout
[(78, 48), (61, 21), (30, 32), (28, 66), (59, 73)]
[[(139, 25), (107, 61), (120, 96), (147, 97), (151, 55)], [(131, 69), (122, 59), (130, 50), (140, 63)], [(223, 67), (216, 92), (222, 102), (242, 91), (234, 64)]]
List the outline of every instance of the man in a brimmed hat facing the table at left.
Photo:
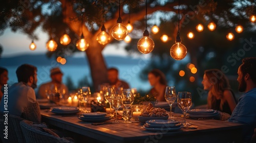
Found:
[(59, 91), (53, 91), (53, 92), (63, 92), (65, 90), (65, 93), (69, 93), (68, 87), (62, 83), (62, 76), (63, 73), (59, 69), (59, 67), (55, 67), (51, 69), (51, 79), (52, 81), (48, 83), (41, 84), (38, 92), (37, 92), (37, 98), (38, 99), (47, 99), (47, 93), (46, 90), (59, 90)]

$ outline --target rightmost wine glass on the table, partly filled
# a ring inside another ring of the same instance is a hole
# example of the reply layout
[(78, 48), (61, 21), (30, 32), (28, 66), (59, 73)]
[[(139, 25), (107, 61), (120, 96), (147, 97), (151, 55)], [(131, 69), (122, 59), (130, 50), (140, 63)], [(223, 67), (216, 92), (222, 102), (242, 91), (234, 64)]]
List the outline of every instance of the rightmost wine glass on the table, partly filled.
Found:
[(190, 126), (190, 124), (186, 122), (186, 113), (187, 113), (187, 110), (192, 106), (191, 93), (187, 91), (178, 92), (177, 102), (179, 104), (179, 107), (181, 108), (181, 110), (183, 110), (183, 113), (184, 113), (183, 126), (184, 127)]

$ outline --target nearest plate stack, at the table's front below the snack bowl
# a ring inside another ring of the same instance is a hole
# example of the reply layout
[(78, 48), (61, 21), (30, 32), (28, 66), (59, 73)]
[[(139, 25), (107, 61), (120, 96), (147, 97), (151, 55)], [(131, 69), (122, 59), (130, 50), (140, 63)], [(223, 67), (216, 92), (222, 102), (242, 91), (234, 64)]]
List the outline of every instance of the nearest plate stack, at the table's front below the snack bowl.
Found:
[(148, 131), (174, 131), (182, 128), (182, 124), (175, 120), (149, 120), (143, 126)]

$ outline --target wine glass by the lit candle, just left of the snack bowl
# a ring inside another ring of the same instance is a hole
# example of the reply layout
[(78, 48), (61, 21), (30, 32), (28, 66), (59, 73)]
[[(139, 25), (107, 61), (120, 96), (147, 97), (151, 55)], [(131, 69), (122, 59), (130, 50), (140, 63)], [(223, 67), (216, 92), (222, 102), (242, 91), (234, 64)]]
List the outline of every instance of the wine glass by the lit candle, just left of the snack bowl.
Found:
[(132, 122), (129, 122), (129, 116), (131, 116), (130, 115), (131, 111), (129, 112), (129, 109), (128, 109), (133, 104), (133, 101), (134, 101), (134, 97), (131, 89), (123, 89), (121, 97), (122, 97), (122, 104), (125, 107), (125, 112), (123, 114), (125, 118), (124, 123), (132, 123)]

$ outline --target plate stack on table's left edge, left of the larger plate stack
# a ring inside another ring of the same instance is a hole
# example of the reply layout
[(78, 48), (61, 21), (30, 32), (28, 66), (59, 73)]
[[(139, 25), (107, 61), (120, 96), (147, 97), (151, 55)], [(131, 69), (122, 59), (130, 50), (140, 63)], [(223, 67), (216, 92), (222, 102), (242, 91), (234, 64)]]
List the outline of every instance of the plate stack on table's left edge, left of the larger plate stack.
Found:
[(58, 107), (51, 107), (50, 111), (55, 114), (76, 114), (79, 112), (77, 107), (72, 106), (58, 106)]

